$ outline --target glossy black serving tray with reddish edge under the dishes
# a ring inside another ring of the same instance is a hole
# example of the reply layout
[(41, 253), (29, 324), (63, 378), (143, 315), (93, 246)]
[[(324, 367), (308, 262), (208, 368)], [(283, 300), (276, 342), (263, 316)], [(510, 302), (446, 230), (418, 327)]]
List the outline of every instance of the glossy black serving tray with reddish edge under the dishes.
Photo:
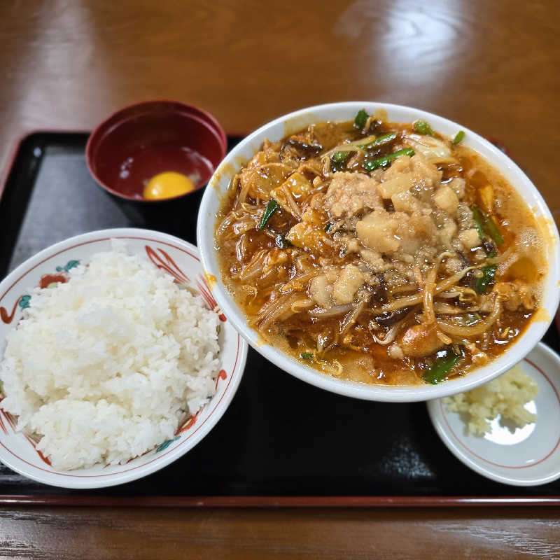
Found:
[[(0, 193), (0, 276), (66, 237), (139, 225), (87, 172), (86, 140), (81, 132), (35, 132), (21, 141)], [(229, 147), (237, 141), (230, 137)], [(182, 237), (195, 243), (192, 229)], [(559, 349), (554, 327), (544, 341)], [(95, 491), (45, 486), (1, 465), (0, 502), (560, 505), (560, 480), (531, 488), (491, 482), (444, 447), (423, 403), (334, 395), (304, 384), (249, 349), (228, 411), (172, 465)]]

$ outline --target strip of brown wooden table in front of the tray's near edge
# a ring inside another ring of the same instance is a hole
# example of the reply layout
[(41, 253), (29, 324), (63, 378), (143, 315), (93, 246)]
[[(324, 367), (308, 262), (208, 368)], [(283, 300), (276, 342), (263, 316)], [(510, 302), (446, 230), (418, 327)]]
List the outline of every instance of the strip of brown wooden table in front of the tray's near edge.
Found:
[(560, 557), (560, 521), (547, 510), (43, 507), (0, 511), (0, 523), (0, 557), (10, 559)]

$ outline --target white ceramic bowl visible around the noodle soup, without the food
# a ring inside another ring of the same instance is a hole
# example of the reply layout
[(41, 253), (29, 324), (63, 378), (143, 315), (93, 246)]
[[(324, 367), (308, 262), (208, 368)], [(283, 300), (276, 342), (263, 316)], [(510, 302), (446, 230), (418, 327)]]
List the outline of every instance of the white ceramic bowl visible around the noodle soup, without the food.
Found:
[[(262, 344), (260, 342), (262, 338), (258, 337), (255, 330), (248, 327), (243, 312), (232, 300), (220, 279), (216, 252), (214, 250), (216, 212), (218, 211), (223, 193), (228, 189), (230, 179), (242, 167), (242, 162), (251, 158), (260, 149), (265, 138), (277, 141), (288, 134), (301, 130), (310, 123), (325, 120), (350, 120), (362, 108), (367, 113), (374, 113), (374, 111), (380, 108), (386, 109), (389, 120), (398, 123), (411, 123), (418, 118), (423, 118), (430, 123), (434, 130), (448, 137), (454, 137), (459, 130), (464, 130), (465, 139), (463, 144), (477, 151), (486, 160), (491, 162), (510, 181), (512, 186), (524, 197), (524, 200), (533, 210), (534, 214), (539, 217), (538, 223), (545, 230), (544, 237), (547, 239), (545, 251), (547, 252), (549, 270), (544, 280), (545, 289), (542, 302), (544, 310), (539, 316), (539, 320), (533, 321), (524, 335), (519, 337), (517, 342), (512, 344), (500, 358), (484, 367), (479, 367), (478, 370), (465, 377), (445, 381), (438, 385), (419, 387), (366, 385), (329, 377), (300, 363), (294, 358), (286, 356), (285, 353), (268, 344)], [(225, 315), (230, 318), (235, 328), (241, 332), (241, 335), (244, 336), (251, 346), (272, 363), (303, 381), (333, 393), (367, 400), (393, 402), (429, 400), (468, 391), (493, 379), (493, 377), (497, 377), (499, 374), (510, 369), (512, 365), (524, 358), (526, 353), (533, 349), (533, 346), (545, 334), (559, 303), (560, 253), (558, 230), (556, 230), (554, 219), (545, 201), (524, 172), (510, 158), (507, 158), (507, 155), (498, 150), (496, 146), (493, 146), (475, 132), (445, 118), (426, 113), (426, 111), (388, 103), (346, 102), (309, 107), (308, 109), (295, 111), (295, 113), (277, 118), (271, 123), (260, 127), (253, 134), (250, 134), (225, 157), (225, 160), (216, 169), (216, 173), (210, 180), (209, 188), (204, 193), (200, 206), (197, 223), (197, 243), (204, 269), (209, 274), (216, 276), (217, 279), (211, 286), (214, 297), (216, 297)]]

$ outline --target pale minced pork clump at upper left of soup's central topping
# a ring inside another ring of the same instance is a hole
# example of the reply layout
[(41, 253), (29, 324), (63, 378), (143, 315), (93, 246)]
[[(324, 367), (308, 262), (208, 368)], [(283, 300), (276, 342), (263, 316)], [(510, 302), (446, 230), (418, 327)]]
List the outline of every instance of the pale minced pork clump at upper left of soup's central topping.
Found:
[(363, 173), (337, 172), (325, 195), (325, 208), (332, 218), (351, 218), (360, 212), (383, 208), (377, 181)]

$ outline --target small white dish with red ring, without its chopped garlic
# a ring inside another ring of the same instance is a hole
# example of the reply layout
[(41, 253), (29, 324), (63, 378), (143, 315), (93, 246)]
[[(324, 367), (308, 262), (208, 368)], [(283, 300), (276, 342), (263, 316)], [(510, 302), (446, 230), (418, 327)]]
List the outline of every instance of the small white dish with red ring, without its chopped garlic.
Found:
[(491, 433), (470, 435), (441, 399), (426, 405), (449, 451), (479, 475), (513, 486), (547, 484), (560, 478), (560, 356), (539, 342), (519, 366), (538, 384), (538, 395), (526, 404), (537, 420), (514, 433), (495, 419)]

